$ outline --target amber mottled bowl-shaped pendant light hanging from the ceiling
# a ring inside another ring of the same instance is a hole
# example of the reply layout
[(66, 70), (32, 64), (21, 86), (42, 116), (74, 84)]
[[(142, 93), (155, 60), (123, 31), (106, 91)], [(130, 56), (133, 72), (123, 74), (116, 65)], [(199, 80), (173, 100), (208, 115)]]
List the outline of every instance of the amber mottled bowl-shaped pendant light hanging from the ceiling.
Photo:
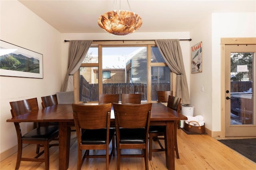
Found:
[(113, 10), (102, 14), (98, 18), (98, 25), (113, 35), (128, 35), (137, 31), (142, 25), (142, 19), (138, 14), (132, 12), (130, 4), (127, 0), (130, 11), (115, 10), (116, 1), (114, 0)]

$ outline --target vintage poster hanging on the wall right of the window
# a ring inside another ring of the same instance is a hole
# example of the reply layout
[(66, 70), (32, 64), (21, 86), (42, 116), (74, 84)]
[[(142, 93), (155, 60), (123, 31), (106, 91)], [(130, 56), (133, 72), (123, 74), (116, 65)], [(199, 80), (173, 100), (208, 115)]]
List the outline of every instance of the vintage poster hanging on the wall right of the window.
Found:
[(191, 47), (191, 73), (202, 72), (202, 41)]

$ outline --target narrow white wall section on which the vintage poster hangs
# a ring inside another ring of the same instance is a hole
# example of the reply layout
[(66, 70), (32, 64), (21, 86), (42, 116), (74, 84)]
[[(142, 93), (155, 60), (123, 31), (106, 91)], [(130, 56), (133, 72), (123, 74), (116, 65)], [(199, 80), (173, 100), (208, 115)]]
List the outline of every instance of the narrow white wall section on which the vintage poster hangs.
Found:
[[(194, 116), (202, 115), (205, 127), (212, 129), (212, 19), (208, 15), (190, 32), (191, 47), (202, 42), (202, 72), (190, 75), (190, 100), (194, 106)], [(191, 62), (191, 57), (190, 57)], [(190, 64), (191, 69), (191, 64)], [(201, 90), (202, 86), (204, 91)]]

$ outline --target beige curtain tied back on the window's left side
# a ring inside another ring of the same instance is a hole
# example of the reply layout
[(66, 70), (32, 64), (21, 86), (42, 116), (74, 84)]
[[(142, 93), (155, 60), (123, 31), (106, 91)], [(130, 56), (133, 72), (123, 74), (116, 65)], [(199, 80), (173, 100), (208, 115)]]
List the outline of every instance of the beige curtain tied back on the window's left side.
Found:
[(79, 69), (87, 54), (91, 40), (70, 40), (68, 53), (68, 70), (61, 87), (61, 92), (69, 92), (74, 90), (73, 74)]

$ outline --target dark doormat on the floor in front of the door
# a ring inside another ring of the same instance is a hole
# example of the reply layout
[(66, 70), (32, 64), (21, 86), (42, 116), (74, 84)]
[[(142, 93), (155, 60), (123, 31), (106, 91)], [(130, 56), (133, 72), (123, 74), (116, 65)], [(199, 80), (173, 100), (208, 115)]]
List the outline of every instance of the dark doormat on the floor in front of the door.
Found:
[(218, 140), (246, 158), (256, 162), (256, 138)]

